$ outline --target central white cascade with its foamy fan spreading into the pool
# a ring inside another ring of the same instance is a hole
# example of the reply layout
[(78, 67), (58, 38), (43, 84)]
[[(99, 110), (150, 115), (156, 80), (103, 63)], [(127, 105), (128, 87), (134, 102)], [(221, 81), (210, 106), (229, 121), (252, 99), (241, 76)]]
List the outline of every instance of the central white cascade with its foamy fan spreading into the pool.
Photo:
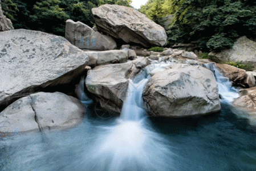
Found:
[[(152, 71), (152, 70), (151, 70)], [(150, 76), (142, 71), (133, 82), (129, 80), (127, 97), (115, 124), (101, 126), (99, 137), (85, 154), (88, 170), (169, 170), (173, 155), (167, 143), (152, 131), (143, 108), (143, 88)], [(96, 162), (95, 162), (96, 161)]]

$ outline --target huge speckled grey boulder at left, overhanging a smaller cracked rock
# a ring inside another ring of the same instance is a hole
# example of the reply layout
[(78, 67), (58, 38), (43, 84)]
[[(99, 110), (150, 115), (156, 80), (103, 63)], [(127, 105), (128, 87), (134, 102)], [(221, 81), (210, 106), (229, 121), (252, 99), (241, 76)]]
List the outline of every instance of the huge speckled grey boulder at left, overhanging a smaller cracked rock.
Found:
[[(0, 111), (10, 104), (7, 96), (59, 78), (90, 62), (84, 51), (63, 37), (40, 31), (0, 32), (0, 42)], [(33, 88), (34, 92), (38, 89)], [(23, 93), (28, 95), (28, 90)]]

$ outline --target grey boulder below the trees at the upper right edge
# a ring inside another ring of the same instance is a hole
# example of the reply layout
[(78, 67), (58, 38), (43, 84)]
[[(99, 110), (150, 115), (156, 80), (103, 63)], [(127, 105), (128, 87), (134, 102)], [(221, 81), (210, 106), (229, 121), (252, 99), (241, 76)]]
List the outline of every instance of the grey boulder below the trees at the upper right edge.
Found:
[(256, 64), (256, 42), (253, 42), (242, 36), (237, 39), (234, 46), (228, 50), (222, 50), (221, 52), (210, 52), (209, 56), (217, 62), (243, 62), (255, 66)]

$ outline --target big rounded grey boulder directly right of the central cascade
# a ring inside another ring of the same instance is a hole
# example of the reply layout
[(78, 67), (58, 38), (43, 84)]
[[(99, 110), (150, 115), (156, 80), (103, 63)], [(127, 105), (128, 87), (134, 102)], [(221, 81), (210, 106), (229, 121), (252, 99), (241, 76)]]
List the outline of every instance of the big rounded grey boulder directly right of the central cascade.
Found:
[(205, 115), (221, 109), (213, 72), (188, 64), (172, 64), (146, 84), (143, 99), (153, 116)]

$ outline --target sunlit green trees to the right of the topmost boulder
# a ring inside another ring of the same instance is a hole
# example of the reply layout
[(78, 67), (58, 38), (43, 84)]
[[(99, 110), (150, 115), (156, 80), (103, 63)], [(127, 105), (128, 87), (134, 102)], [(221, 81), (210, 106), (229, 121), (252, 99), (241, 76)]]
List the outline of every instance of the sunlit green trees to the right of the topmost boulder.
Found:
[(172, 14), (170, 44), (196, 42), (219, 51), (240, 36), (256, 34), (256, 2), (250, 0), (149, 0), (140, 11), (153, 21)]

